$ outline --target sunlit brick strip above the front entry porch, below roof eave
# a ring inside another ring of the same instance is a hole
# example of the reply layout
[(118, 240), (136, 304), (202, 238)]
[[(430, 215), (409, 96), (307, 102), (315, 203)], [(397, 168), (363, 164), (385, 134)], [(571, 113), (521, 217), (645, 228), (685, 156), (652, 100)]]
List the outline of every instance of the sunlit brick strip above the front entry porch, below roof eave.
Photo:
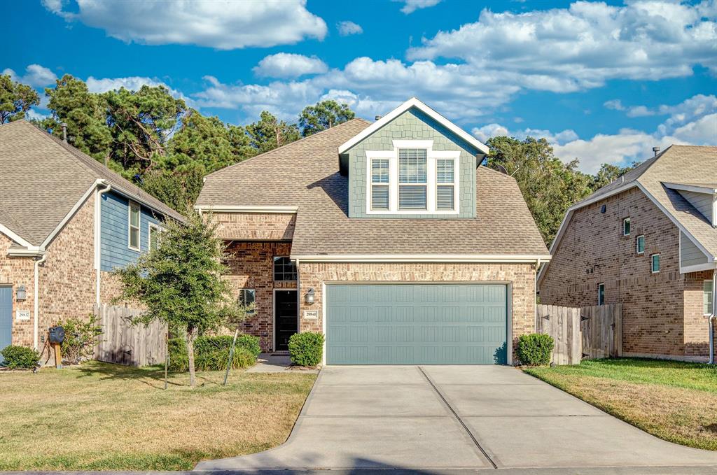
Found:
[(212, 213), (222, 239), (243, 241), (290, 241), (294, 235), (295, 214)]

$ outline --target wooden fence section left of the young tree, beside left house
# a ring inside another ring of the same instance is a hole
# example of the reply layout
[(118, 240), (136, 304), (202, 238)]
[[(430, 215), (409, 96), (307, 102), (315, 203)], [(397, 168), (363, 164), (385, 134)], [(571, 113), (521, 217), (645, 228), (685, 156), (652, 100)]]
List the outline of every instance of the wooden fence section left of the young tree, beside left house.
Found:
[(118, 305), (97, 307), (103, 334), (95, 350), (95, 359), (128, 366), (147, 366), (164, 363), (167, 352), (167, 326), (162, 322), (132, 325), (137, 310)]

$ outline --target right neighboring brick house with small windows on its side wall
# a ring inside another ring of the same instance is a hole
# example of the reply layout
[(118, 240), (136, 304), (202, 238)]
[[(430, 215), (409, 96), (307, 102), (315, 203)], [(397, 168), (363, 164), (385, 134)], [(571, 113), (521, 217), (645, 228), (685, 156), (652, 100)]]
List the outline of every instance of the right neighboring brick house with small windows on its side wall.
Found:
[(716, 226), (717, 147), (673, 145), (569, 208), (541, 303), (622, 303), (623, 355), (704, 360)]

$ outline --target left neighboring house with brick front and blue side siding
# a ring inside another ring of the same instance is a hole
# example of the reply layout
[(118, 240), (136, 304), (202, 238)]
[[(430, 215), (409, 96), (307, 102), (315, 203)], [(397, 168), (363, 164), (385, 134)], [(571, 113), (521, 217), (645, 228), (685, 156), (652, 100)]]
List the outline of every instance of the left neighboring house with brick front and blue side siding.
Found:
[(117, 297), (110, 272), (156, 242), (167, 216), (183, 219), (31, 123), (0, 125), (0, 350), (42, 349), (58, 320)]

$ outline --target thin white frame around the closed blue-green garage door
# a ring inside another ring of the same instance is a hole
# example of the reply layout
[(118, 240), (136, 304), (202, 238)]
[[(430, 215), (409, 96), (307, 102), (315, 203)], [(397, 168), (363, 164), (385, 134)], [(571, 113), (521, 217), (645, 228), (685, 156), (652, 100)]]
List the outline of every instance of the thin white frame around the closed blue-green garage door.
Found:
[(346, 280), (332, 280), (321, 283), (321, 331), (323, 332), (323, 354), (321, 355), (321, 365), (326, 366), (326, 287), (330, 285), (504, 285), (505, 295), (507, 296), (508, 302), (506, 302), (506, 347), (508, 349), (507, 365), (513, 366), (513, 282), (502, 281), (502, 280), (471, 280), (471, 281), (422, 281), (422, 282), (406, 282), (406, 281), (374, 281), (374, 280), (360, 280), (360, 281), (346, 281)]

